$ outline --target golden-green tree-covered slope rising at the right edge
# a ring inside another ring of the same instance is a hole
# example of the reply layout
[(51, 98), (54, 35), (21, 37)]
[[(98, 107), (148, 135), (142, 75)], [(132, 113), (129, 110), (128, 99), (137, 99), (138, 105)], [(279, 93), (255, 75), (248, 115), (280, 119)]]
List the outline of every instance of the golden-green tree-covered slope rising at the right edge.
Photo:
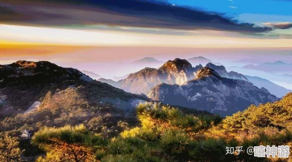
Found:
[[(265, 132), (275, 139), (276, 133), (285, 133), (283, 131), (285, 129), (291, 131), (291, 109), (292, 93), (287, 93), (281, 100), (274, 103), (261, 104), (258, 107), (251, 105), (242, 112), (228, 116), (215, 129), (220, 130), (220, 134), (223, 134), (223, 136), (237, 136), (238, 139), (242, 139), (240, 134), (251, 137), (259, 133), (259, 130), (262, 130), (260, 133)], [(217, 131), (214, 132), (218, 135)]]

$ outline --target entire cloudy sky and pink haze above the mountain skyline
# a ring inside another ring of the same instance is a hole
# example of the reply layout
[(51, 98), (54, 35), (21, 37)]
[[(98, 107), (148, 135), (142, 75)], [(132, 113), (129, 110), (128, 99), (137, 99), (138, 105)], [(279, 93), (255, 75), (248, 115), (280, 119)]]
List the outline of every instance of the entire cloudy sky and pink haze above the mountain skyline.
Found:
[(0, 0), (0, 64), (48, 60), (110, 77), (131, 71), (104, 64), (148, 56), (289, 62), (291, 8), (292, 0)]

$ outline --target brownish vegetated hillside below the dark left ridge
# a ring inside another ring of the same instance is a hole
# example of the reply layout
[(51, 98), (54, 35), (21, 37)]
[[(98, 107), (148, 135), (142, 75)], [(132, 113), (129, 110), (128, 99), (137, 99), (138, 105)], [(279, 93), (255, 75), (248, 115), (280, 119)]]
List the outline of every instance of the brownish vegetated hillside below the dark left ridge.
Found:
[[(24, 86), (27, 87), (20, 88), (19, 91), (27, 92), (29, 86)], [(34, 85), (34, 89), (35, 86), (38, 85)], [(113, 131), (119, 129), (118, 121), (128, 121), (131, 124), (137, 122), (137, 120), (129, 115), (131, 112), (128, 112), (128, 110), (118, 110), (114, 104), (102, 102), (102, 99), (117, 98), (119, 103), (127, 102), (132, 98), (144, 99), (143, 96), (125, 93), (98, 81), (64, 81), (41, 87), (41, 89), (42, 93), (39, 93), (39, 96), (31, 95), (34, 97), (34, 99), (31, 99), (32, 101), (41, 102), (38, 109), (28, 113), (19, 109), (17, 115), (0, 118), (0, 136), (3, 136), (5, 132), (17, 136), (23, 129), (37, 131), (44, 126), (62, 127), (67, 124), (77, 125), (80, 123), (87, 125), (91, 131), (96, 132), (96, 130), (103, 129), (105, 133), (113, 133)], [(30, 93), (16, 94), (19, 91), (9, 90), (9, 87), (5, 89), (7, 98), (15, 97), (15, 99), (11, 99), (11, 103), (26, 105), (19, 103), (19, 101), (26, 100), (28, 98), (26, 96)], [(38, 100), (35, 98), (38, 98)], [(29, 105), (32, 105), (32, 103), (29, 103)], [(6, 104), (10, 104), (10, 102), (7, 101)], [(22, 109), (25, 108), (28, 109), (28, 107), (22, 107)]]

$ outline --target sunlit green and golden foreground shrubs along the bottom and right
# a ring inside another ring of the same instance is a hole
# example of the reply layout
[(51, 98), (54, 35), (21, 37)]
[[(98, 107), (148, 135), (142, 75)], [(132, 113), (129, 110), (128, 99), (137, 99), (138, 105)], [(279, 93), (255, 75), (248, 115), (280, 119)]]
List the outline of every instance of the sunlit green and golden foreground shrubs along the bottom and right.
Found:
[(137, 106), (141, 126), (117, 137), (93, 134), (79, 125), (43, 128), (32, 142), (47, 152), (36, 162), (291, 162), (291, 158), (257, 158), (245, 151), (226, 155), (227, 146), (292, 147), (291, 110), (292, 93), (223, 120), (146, 103)]

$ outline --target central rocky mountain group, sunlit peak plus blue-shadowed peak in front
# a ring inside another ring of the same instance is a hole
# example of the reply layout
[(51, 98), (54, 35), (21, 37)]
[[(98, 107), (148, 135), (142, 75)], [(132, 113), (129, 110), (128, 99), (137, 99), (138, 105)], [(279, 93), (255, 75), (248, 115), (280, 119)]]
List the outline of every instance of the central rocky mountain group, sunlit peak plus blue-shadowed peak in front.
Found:
[(222, 65), (207, 63), (204, 68), (202, 65), (194, 68), (179, 58), (169, 60), (158, 69), (142, 69), (118, 82), (100, 81), (115, 84), (127, 92), (147, 94), (150, 99), (164, 104), (207, 110), (221, 116), (242, 111), (250, 104), (278, 99), (265, 88), (250, 83), (243, 74), (227, 72)]

